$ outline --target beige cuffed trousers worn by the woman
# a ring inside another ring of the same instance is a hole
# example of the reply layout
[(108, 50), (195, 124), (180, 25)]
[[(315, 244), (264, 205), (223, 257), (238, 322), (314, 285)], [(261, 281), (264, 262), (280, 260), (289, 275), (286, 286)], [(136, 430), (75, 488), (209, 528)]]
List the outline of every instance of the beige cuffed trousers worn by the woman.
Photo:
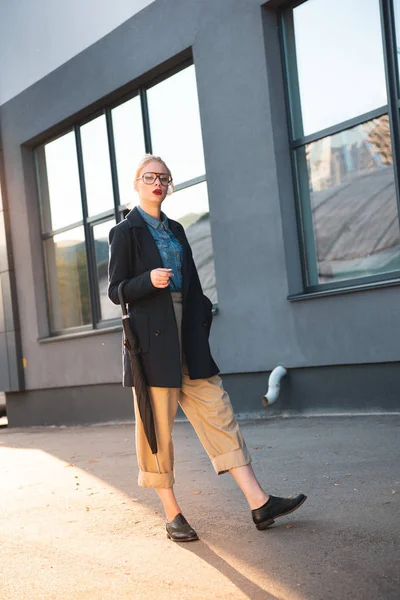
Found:
[[(171, 296), (181, 343), (182, 294), (171, 292)], [(218, 375), (209, 379), (190, 379), (185, 358), (182, 357), (181, 388), (149, 388), (158, 444), (157, 455), (151, 453), (137, 407), (135, 388), (132, 389), (140, 487), (169, 488), (174, 484), (172, 429), (178, 404), (192, 424), (218, 474), (251, 462), (231, 401)]]

